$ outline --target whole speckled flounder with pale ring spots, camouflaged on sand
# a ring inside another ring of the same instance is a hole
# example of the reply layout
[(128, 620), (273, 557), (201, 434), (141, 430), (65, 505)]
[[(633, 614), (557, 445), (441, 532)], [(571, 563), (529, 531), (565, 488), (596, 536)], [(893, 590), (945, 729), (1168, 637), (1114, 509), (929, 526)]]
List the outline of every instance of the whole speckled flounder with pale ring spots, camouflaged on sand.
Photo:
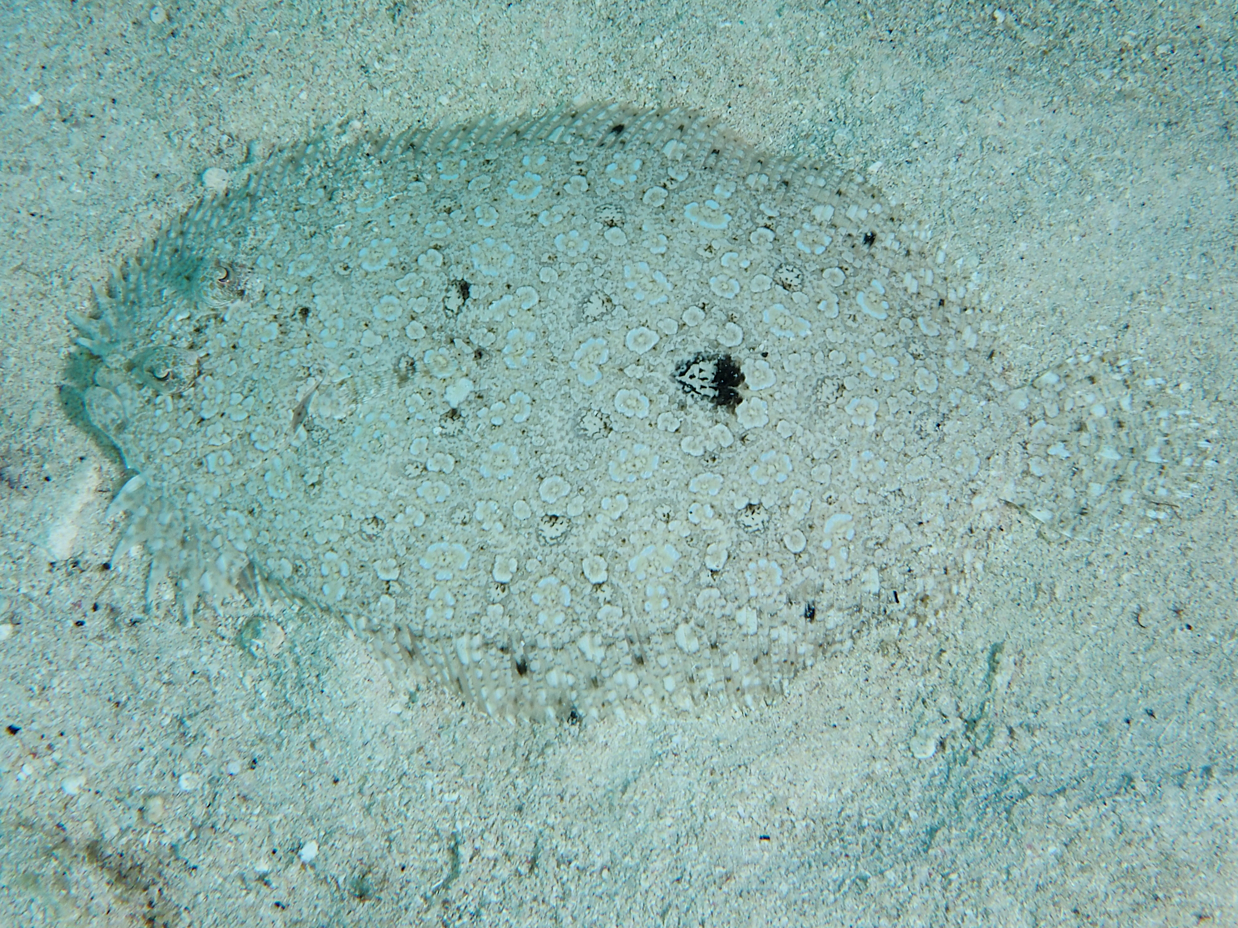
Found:
[(751, 704), (932, 617), (999, 518), (1141, 531), (1211, 459), (1136, 361), (1008, 390), (927, 230), (682, 111), (319, 139), (99, 304), (152, 585), (339, 615), (510, 716)]

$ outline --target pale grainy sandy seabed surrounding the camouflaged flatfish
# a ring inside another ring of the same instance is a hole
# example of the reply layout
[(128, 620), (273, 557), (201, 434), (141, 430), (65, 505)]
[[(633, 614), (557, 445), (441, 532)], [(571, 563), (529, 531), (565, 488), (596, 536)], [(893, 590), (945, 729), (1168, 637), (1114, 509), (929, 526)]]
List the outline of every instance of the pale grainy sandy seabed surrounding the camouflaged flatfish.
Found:
[(0, 923), (1238, 923), (1229, 447), (1151, 537), (1018, 521), (946, 621), (773, 708), (513, 729), (409, 705), (343, 627), (145, 616), (58, 390), (64, 311), (208, 168), (625, 99), (868, 172), (974, 262), (1015, 369), (1139, 353), (1232, 443), (1233, 14), (1144, 6), (6, 6)]

